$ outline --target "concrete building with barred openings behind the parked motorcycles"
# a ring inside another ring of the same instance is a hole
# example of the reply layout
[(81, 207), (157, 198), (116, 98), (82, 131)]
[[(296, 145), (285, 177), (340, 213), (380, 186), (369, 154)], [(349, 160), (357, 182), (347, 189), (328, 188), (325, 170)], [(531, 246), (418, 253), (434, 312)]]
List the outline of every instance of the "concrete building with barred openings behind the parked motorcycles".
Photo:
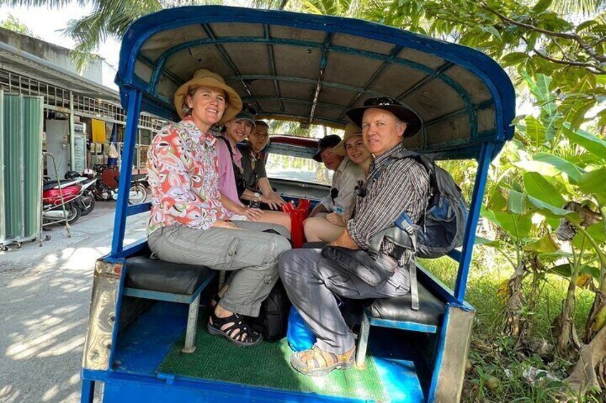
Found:
[[(117, 141), (119, 153), (121, 132), (126, 125), (119, 93), (103, 85), (108, 73), (104, 68), (109, 66), (101, 58), (94, 58), (80, 74), (69, 53), (69, 49), (41, 39), (0, 29), (0, 89), (5, 93), (44, 97), (43, 136), (47, 149), (64, 154), (59, 175), (66, 170), (88, 168), (93, 163), (107, 163), (111, 136)], [(162, 124), (164, 121), (149, 114), (139, 116), (135, 169), (144, 167), (146, 146)], [(83, 144), (90, 143), (93, 156), (88, 154), (83, 160), (86, 153)], [(117, 158), (119, 163), (119, 155)]]

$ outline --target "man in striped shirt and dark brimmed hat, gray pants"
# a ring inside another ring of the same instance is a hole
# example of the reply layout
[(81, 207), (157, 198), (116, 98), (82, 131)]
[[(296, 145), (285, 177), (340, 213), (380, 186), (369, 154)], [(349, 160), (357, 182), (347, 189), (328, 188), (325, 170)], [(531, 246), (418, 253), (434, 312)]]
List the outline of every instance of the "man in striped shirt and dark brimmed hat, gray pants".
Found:
[[(357, 191), (354, 217), (344, 232), (329, 243), (352, 250), (369, 250), (373, 237), (407, 213), (417, 223), (427, 208), (429, 175), (413, 158), (393, 160), (403, 150), (402, 138), (421, 128), (419, 117), (392, 98), (371, 98), (364, 106), (347, 111), (362, 128), (364, 145), (374, 155), (364, 186)], [(391, 160), (390, 160), (391, 159)], [(294, 369), (324, 375), (332, 369), (352, 367), (354, 335), (345, 323), (335, 295), (351, 299), (398, 297), (409, 292), (412, 250), (394, 247), (387, 238), (380, 243), (380, 258), (394, 267), (377, 286), (367, 284), (350, 270), (327, 264), (319, 249), (284, 252), (280, 276), (293, 305), (317, 337), (311, 350), (292, 354)]]

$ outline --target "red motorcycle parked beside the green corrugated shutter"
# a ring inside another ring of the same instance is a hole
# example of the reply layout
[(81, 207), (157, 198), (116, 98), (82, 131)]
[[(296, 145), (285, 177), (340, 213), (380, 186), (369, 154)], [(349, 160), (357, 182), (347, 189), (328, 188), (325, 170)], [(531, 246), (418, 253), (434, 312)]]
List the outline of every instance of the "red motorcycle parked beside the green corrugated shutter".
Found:
[(76, 199), (84, 191), (85, 177), (73, 180), (47, 180), (42, 188), (42, 225), (75, 223), (80, 218), (80, 208)]

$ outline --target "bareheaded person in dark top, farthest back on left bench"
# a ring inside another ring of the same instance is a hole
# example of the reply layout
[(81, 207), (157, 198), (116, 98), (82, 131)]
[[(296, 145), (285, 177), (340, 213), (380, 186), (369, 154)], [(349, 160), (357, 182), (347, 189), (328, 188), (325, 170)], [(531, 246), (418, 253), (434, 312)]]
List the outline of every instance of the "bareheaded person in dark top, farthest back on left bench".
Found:
[(246, 147), (242, 152), (244, 185), (252, 192), (252, 197), (244, 195), (245, 200), (257, 200), (273, 210), (286, 203), (274, 192), (265, 171), (264, 148), (269, 144), (269, 125), (264, 121), (255, 121), (254, 128), (248, 136)]

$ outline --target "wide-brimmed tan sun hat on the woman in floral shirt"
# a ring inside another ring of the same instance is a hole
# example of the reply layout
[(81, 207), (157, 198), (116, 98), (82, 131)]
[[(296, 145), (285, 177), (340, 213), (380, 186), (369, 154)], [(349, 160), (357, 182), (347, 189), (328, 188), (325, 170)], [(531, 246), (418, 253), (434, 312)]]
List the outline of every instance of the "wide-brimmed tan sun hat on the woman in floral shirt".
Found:
[(202, 86), (222, 89), (227, 95), (227, 106), (221, 120), (218, 121), (217, 124), (229, 121), (242, 109), (242, 99), (240, 99), (240, 96), (234, 88), (225, 83), (222, 76), (219, 76), (219, 74), (213, 73), (206, 68), (200, 68), (194, 73), (191, 80), (180, 86), (177, 92), (174, 93), (174, 107), (177, 109), (179, 117), (185, 117), (183, 103), (187, 93), (194, 88)]

